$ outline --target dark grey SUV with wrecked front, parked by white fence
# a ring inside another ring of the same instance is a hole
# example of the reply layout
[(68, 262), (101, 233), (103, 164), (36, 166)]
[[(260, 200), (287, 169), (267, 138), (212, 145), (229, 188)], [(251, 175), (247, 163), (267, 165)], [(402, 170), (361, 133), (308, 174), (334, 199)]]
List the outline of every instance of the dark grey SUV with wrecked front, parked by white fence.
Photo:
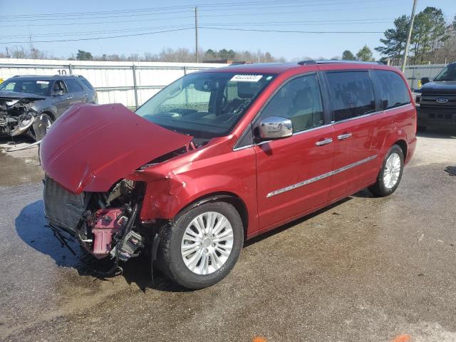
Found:
[(14, 76), (0, 84), (0, 136), (28, 134), (41, 140), (75, 103), (97, 103), (83, 76)]

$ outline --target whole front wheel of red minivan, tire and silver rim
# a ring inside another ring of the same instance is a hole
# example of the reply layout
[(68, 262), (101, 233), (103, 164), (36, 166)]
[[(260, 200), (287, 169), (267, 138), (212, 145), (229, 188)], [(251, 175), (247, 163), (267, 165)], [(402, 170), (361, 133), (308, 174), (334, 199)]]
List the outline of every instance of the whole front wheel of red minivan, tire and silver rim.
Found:
[(165, 232), (158, 262), (177, 284), (202, 289), (229, 274), (243, 242), (237, 210), (226, 202), (209, 202), (178, 215)]

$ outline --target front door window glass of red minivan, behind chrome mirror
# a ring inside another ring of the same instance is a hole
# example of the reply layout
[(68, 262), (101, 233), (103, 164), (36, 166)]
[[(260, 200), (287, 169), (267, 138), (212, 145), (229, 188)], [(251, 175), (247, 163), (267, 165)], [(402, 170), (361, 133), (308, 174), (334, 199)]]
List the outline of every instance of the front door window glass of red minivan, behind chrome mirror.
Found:
[(301, 76), (286, 83), (266, 105), (260, 120), (270, 116), (289, 118), (293, 132), (323, 125), (323, 103), (317, 76)]

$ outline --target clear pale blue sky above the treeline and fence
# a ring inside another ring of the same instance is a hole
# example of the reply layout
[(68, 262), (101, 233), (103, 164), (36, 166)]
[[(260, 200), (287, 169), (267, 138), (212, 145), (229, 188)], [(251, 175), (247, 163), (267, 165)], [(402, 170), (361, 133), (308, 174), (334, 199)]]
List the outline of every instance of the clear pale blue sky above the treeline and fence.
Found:
[[(291, 61), (340, 57), (365, 44), (373, 50), (395, 18), (410, 15), (413, 0), (0, 0), (0, 51), (28, 47), (30, 36), (35, 48), (58, 58), (78, 49), (195, 51), (195, 6), (200, 48), (269, 51)], [(448, 23), (456, 15), (456, 0), (418, 0), (417, 13), (426, 6), (442, 9)]]

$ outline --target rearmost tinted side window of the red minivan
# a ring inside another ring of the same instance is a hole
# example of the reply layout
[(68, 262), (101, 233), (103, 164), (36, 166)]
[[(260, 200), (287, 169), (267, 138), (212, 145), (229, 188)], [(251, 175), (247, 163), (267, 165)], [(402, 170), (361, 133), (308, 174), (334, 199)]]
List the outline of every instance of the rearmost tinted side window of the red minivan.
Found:
[(375, 85), (380, 97), (380, 108), (395, 108), (410, 103), (408, 87), (394, 71), (374, 70)]

